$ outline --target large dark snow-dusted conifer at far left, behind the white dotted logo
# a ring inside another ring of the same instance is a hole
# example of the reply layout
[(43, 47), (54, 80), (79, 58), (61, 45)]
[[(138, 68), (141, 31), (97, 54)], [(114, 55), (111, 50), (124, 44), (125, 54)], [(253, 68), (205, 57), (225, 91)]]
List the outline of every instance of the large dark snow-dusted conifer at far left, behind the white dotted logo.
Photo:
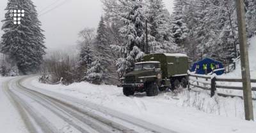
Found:
[[(10, 10), (24, 10), (21, 24), (13, 24)], [(5, 19), (2, 21), (4, 31), (1, 52), (15, 62), (22, 74), (35, 72), (42, 64), (45, 54), (44, 34), (37, 18), (35, 6), (31, 0), (9, 0)]]

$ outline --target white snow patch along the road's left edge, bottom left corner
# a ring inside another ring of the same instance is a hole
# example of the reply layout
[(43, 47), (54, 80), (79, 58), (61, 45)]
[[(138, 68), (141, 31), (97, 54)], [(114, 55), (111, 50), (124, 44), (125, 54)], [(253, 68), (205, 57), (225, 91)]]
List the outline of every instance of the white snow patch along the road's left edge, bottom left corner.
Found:
[(28, 132), (17, 109), (6, 97), (4, 82), (12, 78), (0, 77), (0, 132), (3, 133), (25, 133)]

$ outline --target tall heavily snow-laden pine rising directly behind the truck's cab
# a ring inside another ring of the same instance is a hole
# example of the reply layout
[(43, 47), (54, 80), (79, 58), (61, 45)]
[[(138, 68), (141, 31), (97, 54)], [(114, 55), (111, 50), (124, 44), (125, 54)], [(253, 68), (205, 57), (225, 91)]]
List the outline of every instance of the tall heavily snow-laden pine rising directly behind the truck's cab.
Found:
[(136, 0), (118, 0), (111, 4), (104, 1), (107, 16), (123, 22), (119, 32), (124, 39), (120, 45), (112, 45), (113, 50), (118, 51), (120, 55), (116, 60), (119, 77), (124, 76), (148, 48), (145, 45), (145, 17), (142, 5), (141, 1)]

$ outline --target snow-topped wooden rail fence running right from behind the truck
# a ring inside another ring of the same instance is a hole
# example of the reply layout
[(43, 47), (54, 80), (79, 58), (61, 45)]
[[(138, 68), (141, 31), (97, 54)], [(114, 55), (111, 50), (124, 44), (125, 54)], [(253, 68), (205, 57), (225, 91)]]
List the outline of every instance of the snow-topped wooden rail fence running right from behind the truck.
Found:
[[(227, 85), (217, 85), (218, 82), (232, 82), (232, 83), (242, 83), (242, 79), (226, 79), (226, 78), (216, 78), (216, 76), (207, 76), (199, 74), (188, 74), (189, 83), (188, 89), (191, 90), (192, 87), (201, 88), (203, 90), (210, 90), (211, 97), (215, 95), (217, 88), (223, 88), (228, 90), (243, 90), (243, 87), (234, 87)], [(256, 83), (256, 80), (251, 80), (252, 83)], [(208, 87), (207, 87), (208, 85)], [(252, 87), (252, 91), (256, 91), (256, 87)], [(218, 94), (221, 96), (230, 96), (230, 97), (241, 97), (239, 95), (227, 95), (227, 94)], [(243, 98), (243, 97), (241, 97)], [(255, 99), (256, 100), (256, 99)]]

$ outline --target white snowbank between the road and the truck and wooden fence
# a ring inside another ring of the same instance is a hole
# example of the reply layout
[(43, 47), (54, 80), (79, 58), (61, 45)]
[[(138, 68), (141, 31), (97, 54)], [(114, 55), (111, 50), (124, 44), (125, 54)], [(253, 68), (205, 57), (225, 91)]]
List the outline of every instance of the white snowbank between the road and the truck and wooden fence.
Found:
[(188, 90), (161, 93), (157, 97), (146, 97), (145, 94), (125, 97), (122, 88), (111, 85), (46, 85), (38, 83), (36, 78), (22, 82), (22, 85), (29, 84), (114, 109), (180, 133), (254, 133), (256, 130), (255, 122), (243, 120), (243, 101), (239, 98), (211, 98), (207, 92)]

